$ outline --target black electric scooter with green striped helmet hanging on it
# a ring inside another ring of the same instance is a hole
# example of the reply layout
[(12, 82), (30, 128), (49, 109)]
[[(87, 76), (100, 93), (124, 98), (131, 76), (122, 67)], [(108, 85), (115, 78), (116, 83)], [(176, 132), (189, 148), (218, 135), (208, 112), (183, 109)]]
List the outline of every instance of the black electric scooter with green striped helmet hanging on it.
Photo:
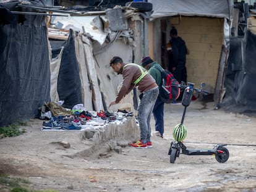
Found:
[(184, 106), (184, 111), (181, 123), (176, 125), (176, 127), (173, 130), (174, 141), (171, 142), (171, 146), (168, 152), (168, 155), (170, 156), (170, 162), (174, 163), (176, 161), (176, 157), (179, 157), (179, 154), (182, 153), (188, 156), (215, 155), (216, 161), (224, 163), (228, 161), (229, 158), (229, 151), (227, 148), (224, 147), (227, 144), (217, 144), (213, 149), (187, 149), (185, 144), (182, 142), (187, 136), (187, 128), (185, 125), (183, 125), (183, 122), (186, 115), (187, 107), (191, 102), (194, 91), (197, 91), (197, 93), (200, 94), (208, 94), (206, 91), (202, 89), (203, 86), (205, 86), (205, 83), (201, 84), (201, 89), (195, 88), (194, 86), (194, 83), (187, 83), (186, 85), (186, 83), (184, 82), (182, 82), (179, 85), (181, 90), (184, 90), (181, 102), (182, 106)]

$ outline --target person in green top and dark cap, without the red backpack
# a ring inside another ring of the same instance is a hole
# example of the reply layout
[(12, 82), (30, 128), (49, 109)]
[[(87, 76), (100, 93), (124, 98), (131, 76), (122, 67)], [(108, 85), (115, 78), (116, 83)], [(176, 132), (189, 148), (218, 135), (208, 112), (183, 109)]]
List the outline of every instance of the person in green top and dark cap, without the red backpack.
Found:
[[(162, 81), (162, 75), (160, 70), (163, 70), (160, 64), (158, 62), (153, 61), (149, 56), (142, 57), (140, 64), (148, 70), (148, 73), (155, 79), (156, 84), (158, 85), (158, 88), (160, 88)], [(158, 69), (156, 68), (158, 67)], [(155, 130), (156, 135), (163, 138), (164, 133), (164, 102), (161, 100), (160, 96), (158, 95), (158, 98), (156, 99), (155, 106), (153, 108), (153, 116), (155, 119)]]

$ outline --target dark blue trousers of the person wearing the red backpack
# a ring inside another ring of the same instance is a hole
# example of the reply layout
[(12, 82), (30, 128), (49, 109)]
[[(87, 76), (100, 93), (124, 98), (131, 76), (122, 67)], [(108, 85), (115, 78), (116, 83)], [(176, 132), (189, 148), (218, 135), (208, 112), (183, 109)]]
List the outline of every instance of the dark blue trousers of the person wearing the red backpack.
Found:
[(153, 108), (153, 115), (155, 119), (155, 130), (159, 131), (161, 135), (164, 133), (164, 119), (163, 119), (163, 111), (164, 111), (164, 102), (161, 101), (158, 96), (155, 102), (155, 106)]

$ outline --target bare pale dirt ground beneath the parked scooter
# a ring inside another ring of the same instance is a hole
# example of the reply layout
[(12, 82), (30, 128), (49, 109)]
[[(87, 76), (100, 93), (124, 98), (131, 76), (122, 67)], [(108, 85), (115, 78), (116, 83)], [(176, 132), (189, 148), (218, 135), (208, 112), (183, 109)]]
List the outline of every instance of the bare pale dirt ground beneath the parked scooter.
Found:
[[(65, 156), (83, 144), (77, 131), (41, 131), (43, 121), (35, 119), (24, 135), (0, 140), (0, 173), (26, 178), (34, 190), (256, 191), (256, 119), (214, 110), (213, 102), (203, 106), (192, 101), (184, 121), (186, 146), (211, 149), (226, 143), (229, 159), (219, 163), (215, 156), (181, 154), (171, 164), (171, 131), (181, 121), (183, 109), (181, 104), (165, 105), (164, 138), (153, 134), (153, 148), (122, 146), (119, 153), (113, 150), (92, 157)], [(152, 118), (152, 133), (153, 124)], [(63, 138), (70, 148), (52, 142)]]

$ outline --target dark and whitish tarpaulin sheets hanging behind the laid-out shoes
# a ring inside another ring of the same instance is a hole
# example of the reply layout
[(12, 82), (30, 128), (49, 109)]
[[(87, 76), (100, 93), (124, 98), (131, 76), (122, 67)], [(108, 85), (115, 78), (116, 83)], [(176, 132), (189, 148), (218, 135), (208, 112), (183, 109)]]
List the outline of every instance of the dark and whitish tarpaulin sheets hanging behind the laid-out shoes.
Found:
[(51, 101), (64, 101), (62, 106), (69, 109), (83, 104), (89, 111), (103, 110), (90, 40), (70, 29), (67, 41), (50, 43)]

